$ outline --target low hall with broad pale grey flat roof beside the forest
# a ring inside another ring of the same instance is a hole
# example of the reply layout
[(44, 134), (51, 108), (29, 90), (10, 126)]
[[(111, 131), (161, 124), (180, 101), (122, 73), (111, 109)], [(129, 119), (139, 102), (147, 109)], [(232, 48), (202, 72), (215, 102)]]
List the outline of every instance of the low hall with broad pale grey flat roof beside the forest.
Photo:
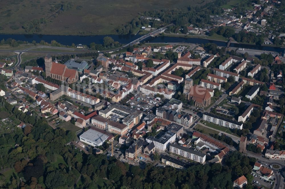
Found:
[(79, 138), (80, 141), (95, 147), (101, 146), (109, 138), (109, 136), (94, 129), (89, 129), (80, 135)]

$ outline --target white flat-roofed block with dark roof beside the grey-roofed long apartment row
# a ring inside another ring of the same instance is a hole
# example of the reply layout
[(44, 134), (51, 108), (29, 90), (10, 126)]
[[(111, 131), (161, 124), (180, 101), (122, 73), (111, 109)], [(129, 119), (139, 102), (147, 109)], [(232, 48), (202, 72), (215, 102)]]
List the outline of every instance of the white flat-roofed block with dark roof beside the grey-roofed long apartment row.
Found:
[(154, 137), (153, 136), (146, 137), (146, 142), (148, 143), (153, 142), (155, 149), (164, 151), (166, 150), (166, 148), (168, 148), (170, 143), (175, 142), (175, 138), (176, 138), (175, 133), (172, 133), (170, 131), (167, 131), (167, 132), (160, 131), (160, 133), (158, 133)]

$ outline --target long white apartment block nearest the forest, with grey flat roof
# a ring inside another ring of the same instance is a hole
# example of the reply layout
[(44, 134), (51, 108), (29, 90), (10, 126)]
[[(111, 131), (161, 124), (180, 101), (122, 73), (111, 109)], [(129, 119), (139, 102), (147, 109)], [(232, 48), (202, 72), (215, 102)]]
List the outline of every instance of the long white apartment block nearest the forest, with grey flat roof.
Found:
[(178, 144), (170, 144), (169, 152), (178, 154), (182, 157), (191, 159), (192, 161), (196, 161), (198, 163), (205, 163), (206, 161), (206, 154), (202, 154), (196, 150), (192, 150), (190, 148), (186, 148)]

